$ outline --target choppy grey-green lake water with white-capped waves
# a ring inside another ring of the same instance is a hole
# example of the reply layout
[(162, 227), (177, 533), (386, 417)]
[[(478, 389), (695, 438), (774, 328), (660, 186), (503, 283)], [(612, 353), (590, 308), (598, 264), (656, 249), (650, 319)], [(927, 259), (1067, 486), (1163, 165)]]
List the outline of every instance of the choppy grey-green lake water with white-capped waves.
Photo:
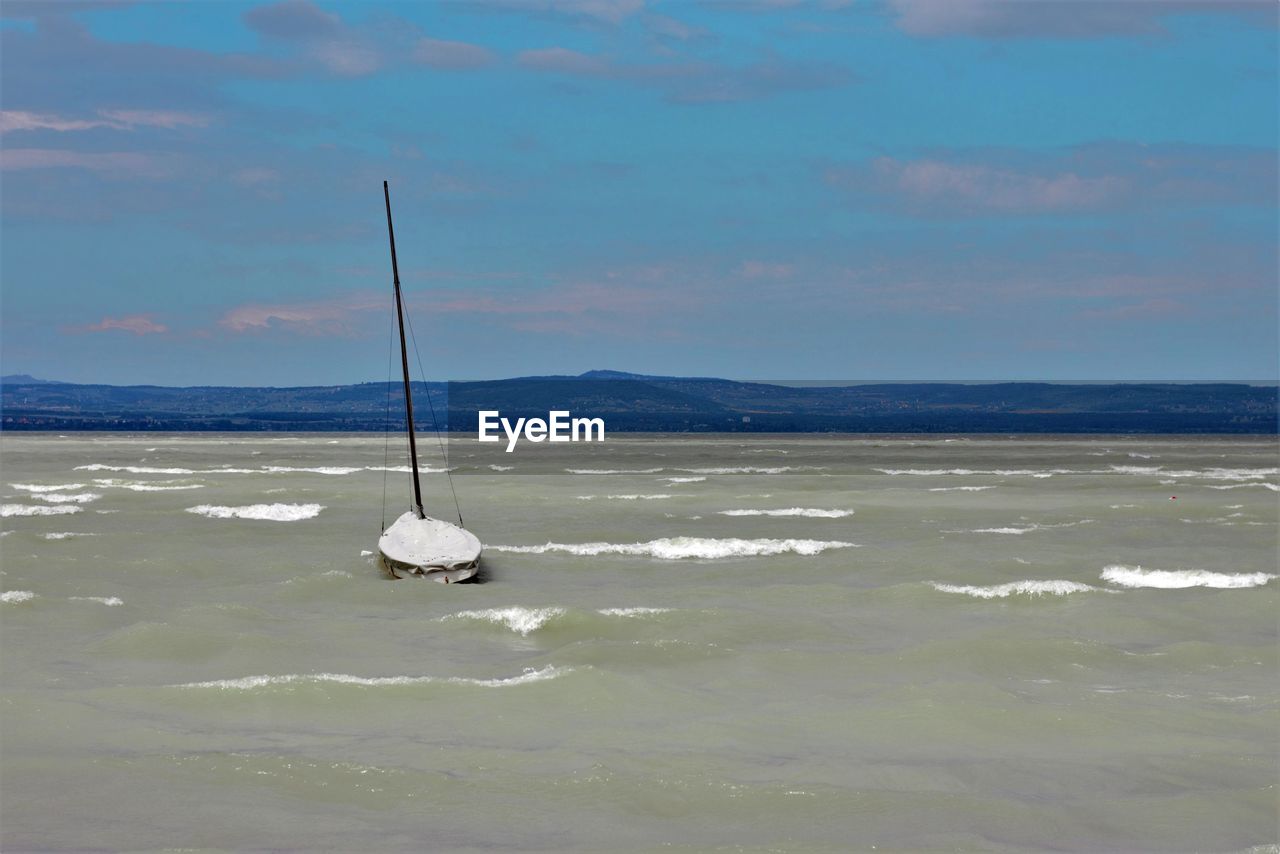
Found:
[(0, 440), (5, 851), (1280, 841), (1274, 437)]

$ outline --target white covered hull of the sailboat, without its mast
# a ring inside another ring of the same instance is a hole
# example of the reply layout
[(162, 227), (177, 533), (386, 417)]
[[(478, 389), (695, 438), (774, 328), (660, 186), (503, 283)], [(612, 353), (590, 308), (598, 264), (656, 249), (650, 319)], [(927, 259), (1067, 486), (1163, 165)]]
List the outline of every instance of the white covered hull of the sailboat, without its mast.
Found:
[(466, 581), (480, 570), (480, 540), (439, 519), (408, 512), (383, 531), (378, 552), (393, 577), (422, 577), (444, 584)]

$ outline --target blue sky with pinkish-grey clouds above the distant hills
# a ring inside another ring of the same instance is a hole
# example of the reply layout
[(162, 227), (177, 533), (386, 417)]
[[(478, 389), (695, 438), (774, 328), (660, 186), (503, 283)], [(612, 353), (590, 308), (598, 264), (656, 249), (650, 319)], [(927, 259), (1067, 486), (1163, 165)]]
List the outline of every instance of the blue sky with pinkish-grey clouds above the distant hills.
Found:
[(4, 374), (1280, 374), (1271, 0), (0, 15)]

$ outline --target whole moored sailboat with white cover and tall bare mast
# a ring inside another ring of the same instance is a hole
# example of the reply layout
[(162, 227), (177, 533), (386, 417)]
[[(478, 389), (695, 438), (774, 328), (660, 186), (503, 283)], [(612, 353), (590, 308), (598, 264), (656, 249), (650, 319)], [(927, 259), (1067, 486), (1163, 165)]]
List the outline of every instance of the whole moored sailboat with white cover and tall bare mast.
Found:
[(451, 584), (466, 581), (480, 567), (480, 540), (458, 525), (431, 519), (422, 512), (422, 487), (417, 472), (417, 437), (413, 431), (413, 397), (408, 382), (408, 348), (404, 344), (404, 300), (401, 296), (399, 265), (396, 261), (396, 229), (392, 228), (392, 191), (383, 182), (387, 201), (387, 236), (392, 245), (392, 280), (396, 286), (396, 320), (401, 337), (401, 367), (404, 371), (404, 419), (408, 423), (408, 456), (413, 469), (413, 506), (383, 530), (378, 553), (383, 567), (397, 579), (425, 577)]

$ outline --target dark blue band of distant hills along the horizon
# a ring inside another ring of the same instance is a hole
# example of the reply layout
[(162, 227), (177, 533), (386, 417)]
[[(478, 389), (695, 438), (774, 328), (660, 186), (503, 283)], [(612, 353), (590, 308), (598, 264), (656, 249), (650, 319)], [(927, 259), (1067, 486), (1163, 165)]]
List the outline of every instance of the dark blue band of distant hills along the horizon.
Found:
[[(876, 383), (791, 387), (593, 370), (415, 383), (430, 429), (474, 431), (479, 410), (599, 416), (611, 431), (1275, 434), (1276, 385), (1243, 383)], [(399, 383), (236, 388), (88, 385), (0, 378), (5, 430), (384, 430), (403, 424)]]

